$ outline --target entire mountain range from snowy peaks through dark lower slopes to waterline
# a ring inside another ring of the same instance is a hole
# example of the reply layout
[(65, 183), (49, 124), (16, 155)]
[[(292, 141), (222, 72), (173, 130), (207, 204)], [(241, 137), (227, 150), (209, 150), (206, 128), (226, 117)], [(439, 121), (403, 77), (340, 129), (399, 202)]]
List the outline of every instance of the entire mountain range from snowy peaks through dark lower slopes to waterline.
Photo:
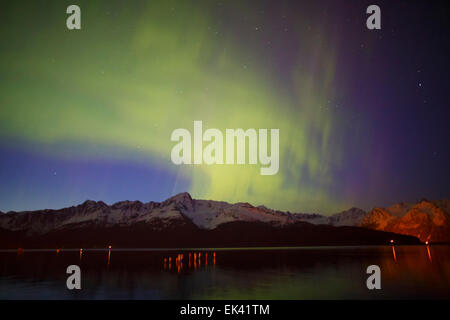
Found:
[[(449, 201), (400, 203), (325, 216), (249, 203), (87, 200), (59, 210), (0, 213), (0, 247), (194, 247), (450, 242)], [(420, 239), (420, 241), (419, 241)]]

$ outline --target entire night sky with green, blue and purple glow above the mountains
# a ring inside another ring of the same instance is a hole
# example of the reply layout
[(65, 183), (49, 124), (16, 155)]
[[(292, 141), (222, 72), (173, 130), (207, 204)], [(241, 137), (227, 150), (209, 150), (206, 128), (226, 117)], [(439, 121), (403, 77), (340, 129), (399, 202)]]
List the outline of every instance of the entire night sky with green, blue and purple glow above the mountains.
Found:
[[(381, 8), (381, 30), (366, 8)], [(66, 8), (81, 8), (81, 30)], [(439, 1), (10, 1), (0, 210), (194, 198), (330, 214), (450, 197)], [(280, 169), (176, 166), (176, 128), (278, 128)]]

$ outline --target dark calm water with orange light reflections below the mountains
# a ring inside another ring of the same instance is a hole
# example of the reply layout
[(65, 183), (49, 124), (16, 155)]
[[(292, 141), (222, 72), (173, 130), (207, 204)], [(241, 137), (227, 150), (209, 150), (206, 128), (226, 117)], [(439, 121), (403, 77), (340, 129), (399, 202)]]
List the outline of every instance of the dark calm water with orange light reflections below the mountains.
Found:
[(450, 246), (0, 251), (0, 299), (412, 298), (450, 299)]

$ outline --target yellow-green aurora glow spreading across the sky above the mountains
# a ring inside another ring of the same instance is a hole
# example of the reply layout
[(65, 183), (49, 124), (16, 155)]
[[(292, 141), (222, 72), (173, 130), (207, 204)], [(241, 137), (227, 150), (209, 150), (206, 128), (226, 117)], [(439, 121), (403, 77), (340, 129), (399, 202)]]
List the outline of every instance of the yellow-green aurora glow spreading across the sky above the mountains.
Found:
[[(290, 68), (288, 87), (263, 52), (217, 19), (217, 4), (78, 1), (82, 29), (69, 31), (70, 3), (48, 3), (12, 5), (2, 17), (1, 140), (52, 157), (133, 162), (144, 154), (188, 179), (195, 198), (293, 211), (349, 207), (351, 199), (330, 192), (342, 137), (338, 114), (325, 108), (336, 64), (328, 26), (317, 23), (313, 35), (302, 19), (289, 26), (308, 54)], [(251, 10), (229, 6), (231, 21), (233, 12)], [(262, 37), (263, 15), (245, 23)], [(279, 173), (261, 176), (259, 165), (175, 166), (170, 134), (192, 129), (194, 120), (221, 130), (279, 128)]]

